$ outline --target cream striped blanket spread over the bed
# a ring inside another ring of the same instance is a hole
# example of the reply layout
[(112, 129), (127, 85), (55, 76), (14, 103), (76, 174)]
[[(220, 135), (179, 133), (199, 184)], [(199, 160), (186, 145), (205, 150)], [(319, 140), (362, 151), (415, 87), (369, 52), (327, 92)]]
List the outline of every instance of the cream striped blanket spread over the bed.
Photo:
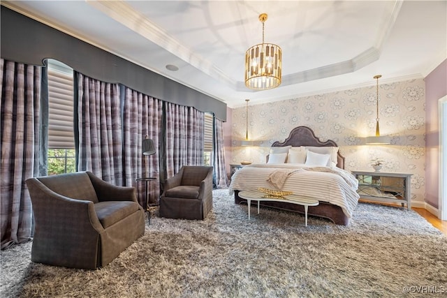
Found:
[(231, 177), (230, 194), (257, 188), (292, 191), (342, 208), (351, 218), (359, 195), (358, 180), (338, 167), (307, 167), (302, 164), (246, 165)]

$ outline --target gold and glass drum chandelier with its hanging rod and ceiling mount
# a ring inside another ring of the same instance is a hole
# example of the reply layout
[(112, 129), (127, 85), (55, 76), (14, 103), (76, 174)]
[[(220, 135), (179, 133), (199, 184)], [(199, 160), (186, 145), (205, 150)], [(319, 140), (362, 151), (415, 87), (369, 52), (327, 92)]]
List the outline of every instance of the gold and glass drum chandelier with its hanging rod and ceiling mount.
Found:
[(272, 89), (281, 84), (281, 47), (264, 43), (264, 22), (267, 17), (266, 13), (259, 15), (263, 23), (263, 43), (250, 47), (245, 53), (245, 86), (249, 89)]

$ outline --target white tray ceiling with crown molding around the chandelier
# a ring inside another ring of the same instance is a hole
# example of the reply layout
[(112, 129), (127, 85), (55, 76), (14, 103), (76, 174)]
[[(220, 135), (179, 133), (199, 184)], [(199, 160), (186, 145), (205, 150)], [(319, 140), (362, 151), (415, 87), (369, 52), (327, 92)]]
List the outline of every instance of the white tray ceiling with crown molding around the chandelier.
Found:
[[(425, 77), (447, 58), (445, 0), (1, 3), (229, 107)], [(262, 42), (261, 13), (283, 81), (251, 91), (244, 54)]]

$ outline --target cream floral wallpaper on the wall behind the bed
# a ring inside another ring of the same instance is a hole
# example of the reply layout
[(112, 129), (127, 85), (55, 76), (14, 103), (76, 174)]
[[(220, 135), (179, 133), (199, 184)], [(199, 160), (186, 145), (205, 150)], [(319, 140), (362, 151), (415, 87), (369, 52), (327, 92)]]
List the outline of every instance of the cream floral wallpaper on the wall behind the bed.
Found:
[(411, 177), (411, 197), (425, 197), (425, 83), (423, 79), (381, 84), (379, 123), (389, 145), (365, 145), (376, 131), (376, 85), (329, 94), (249, 105), (249, 139), (242, 147), (246, 107), (233, 109), (231, 164), (249, 160), (265, 163), (269, 147), (284, 141), (296, 126), (309, 126), (321, 141), (334, 140), (344, 156), (346, 170), (374, 171), (372, 159), (384, 162), (381, 172), (402, 172)]

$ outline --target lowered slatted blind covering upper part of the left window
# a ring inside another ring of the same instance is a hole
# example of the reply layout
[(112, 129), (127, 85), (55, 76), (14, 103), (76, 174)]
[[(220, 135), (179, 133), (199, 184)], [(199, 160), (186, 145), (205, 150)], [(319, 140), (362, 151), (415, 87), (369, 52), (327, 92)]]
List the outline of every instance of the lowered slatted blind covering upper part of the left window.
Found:
[(73, 70), (48, 62), (48, 148), (74, 149)]

